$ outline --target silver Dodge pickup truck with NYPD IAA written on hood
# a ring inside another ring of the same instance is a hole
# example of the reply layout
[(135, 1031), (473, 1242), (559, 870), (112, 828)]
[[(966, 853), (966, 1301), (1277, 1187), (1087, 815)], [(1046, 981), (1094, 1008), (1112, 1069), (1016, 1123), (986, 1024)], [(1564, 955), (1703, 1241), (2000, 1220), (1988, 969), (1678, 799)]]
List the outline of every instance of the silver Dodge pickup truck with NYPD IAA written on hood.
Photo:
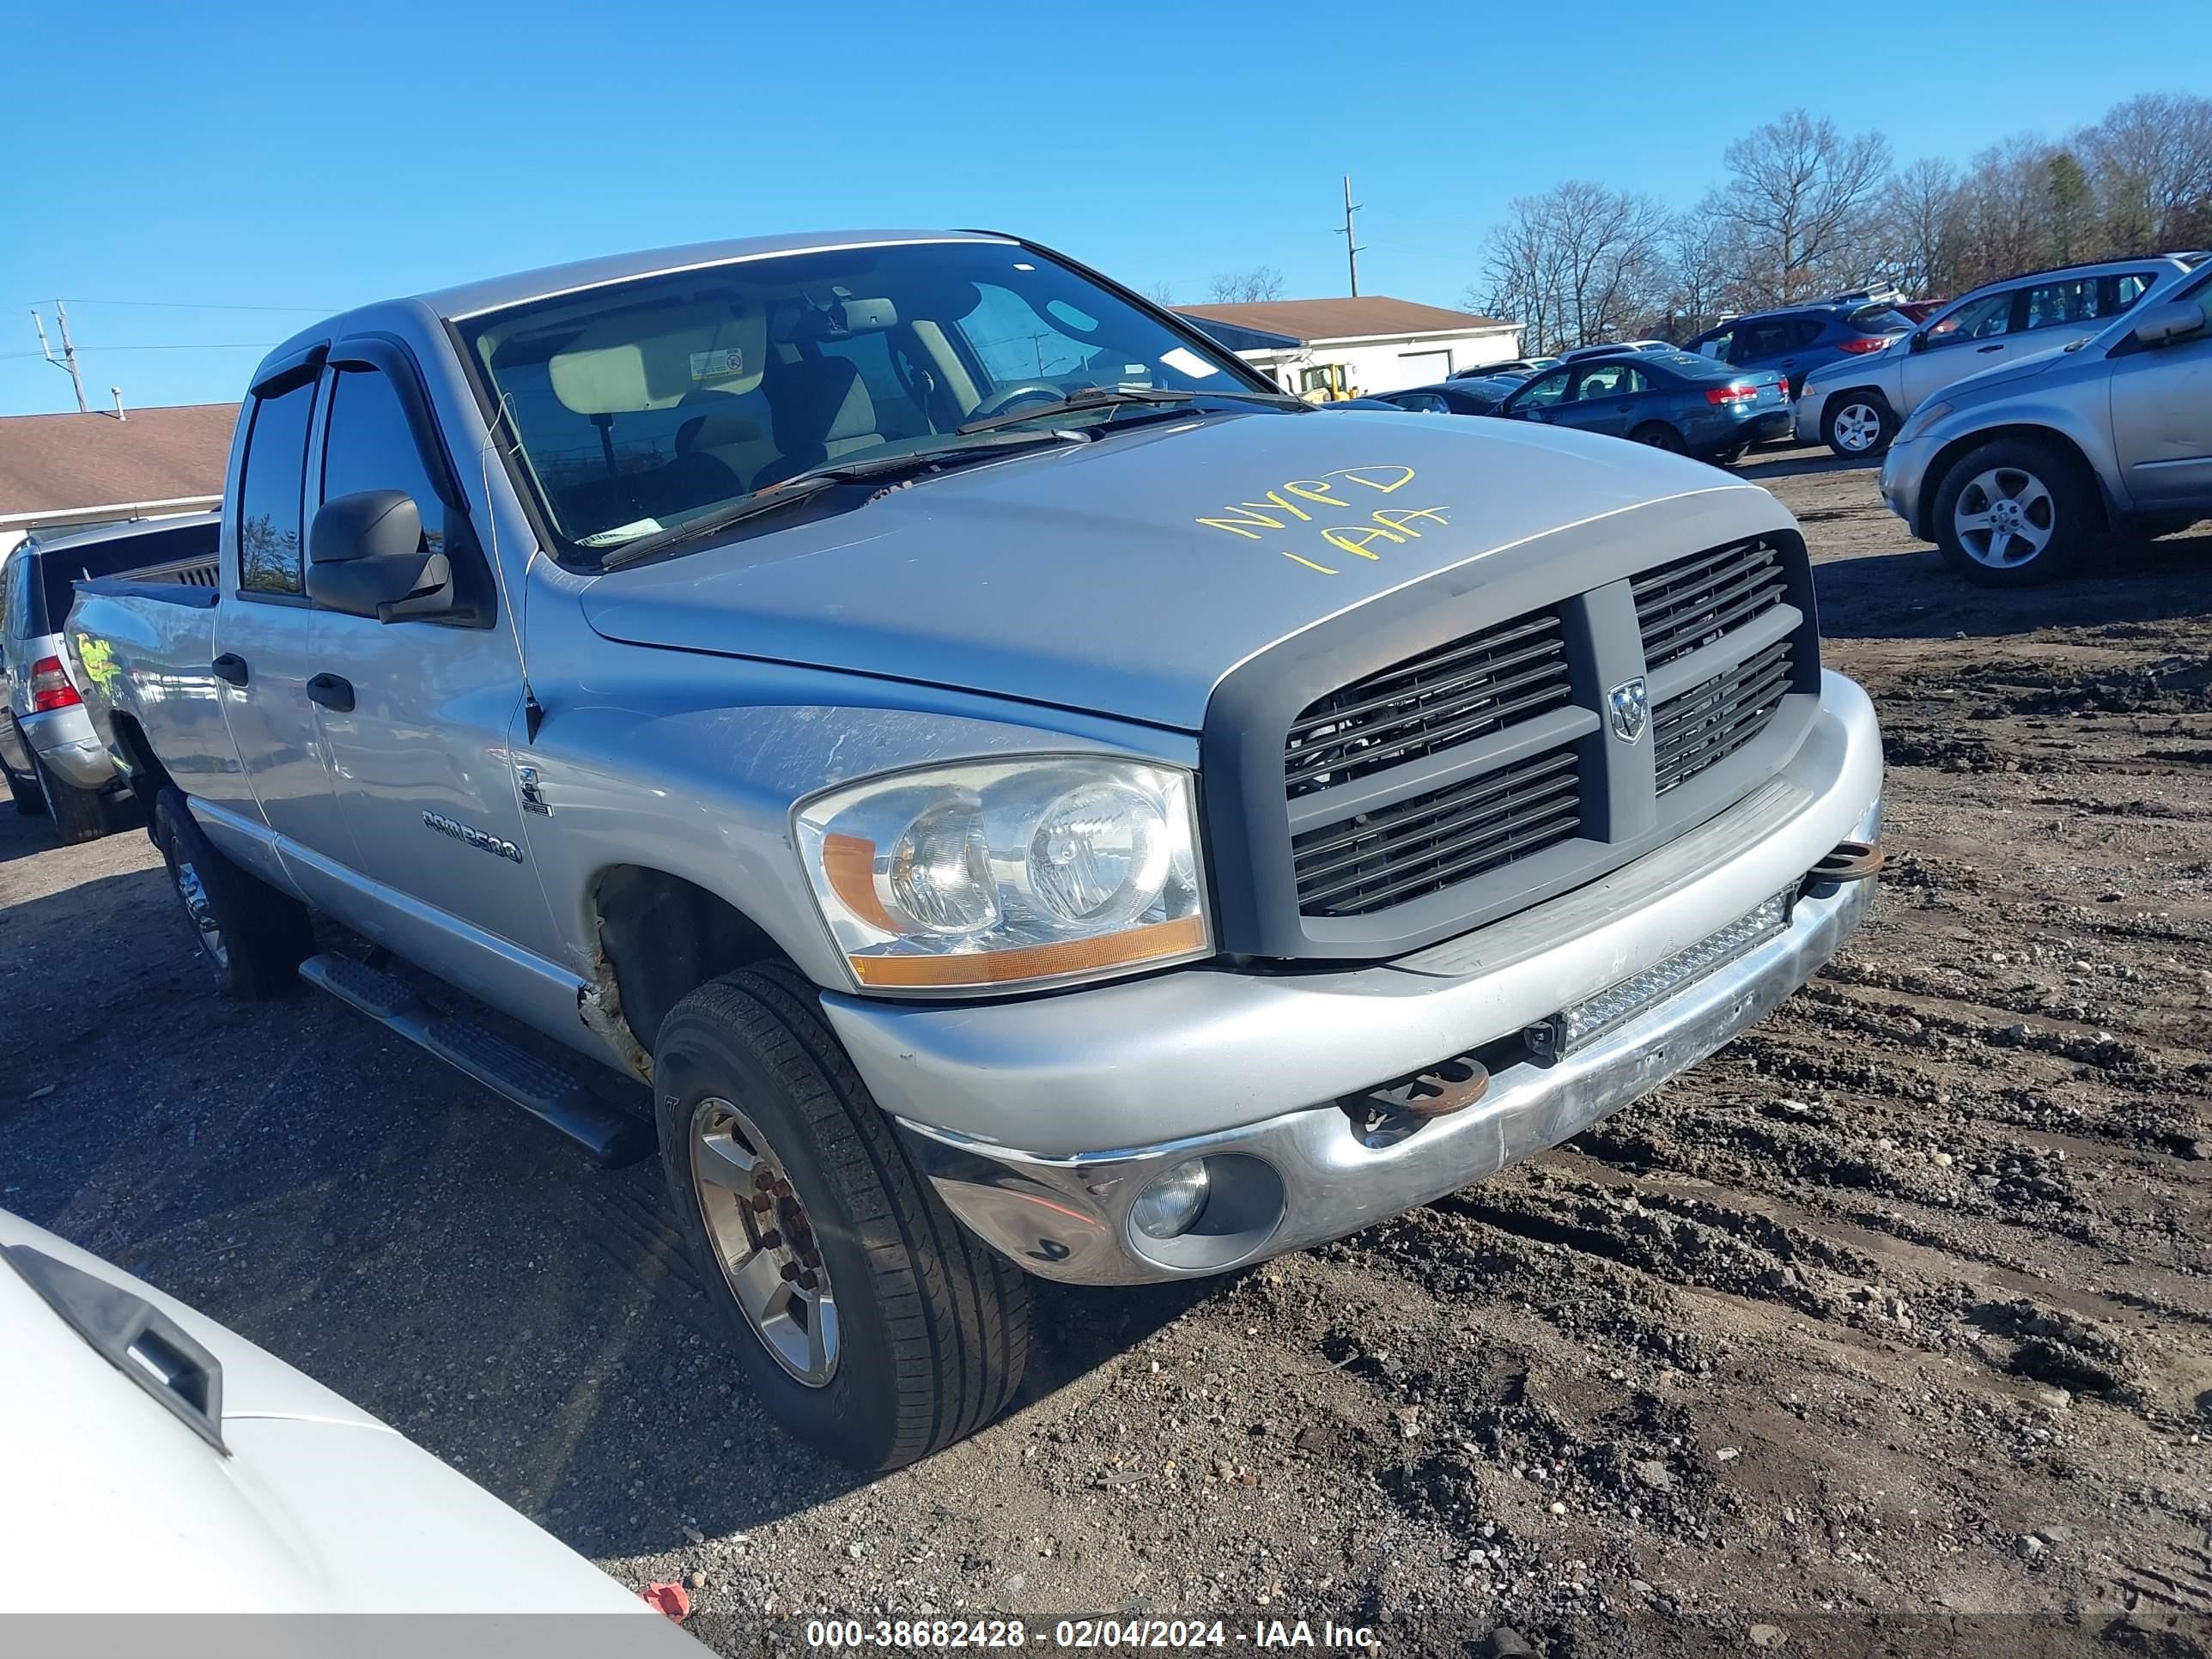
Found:
[(734, 1363), (863, 1467), (1004, 1407), (1024, 1274), (1223, 1272), (1553, 1146), (1880, 863), (1770, 493), (1312, 411), (1006, 234), (347, 312), (226, 498), (217, 588), (69, 624), (217, 984), (657, 1144)]

